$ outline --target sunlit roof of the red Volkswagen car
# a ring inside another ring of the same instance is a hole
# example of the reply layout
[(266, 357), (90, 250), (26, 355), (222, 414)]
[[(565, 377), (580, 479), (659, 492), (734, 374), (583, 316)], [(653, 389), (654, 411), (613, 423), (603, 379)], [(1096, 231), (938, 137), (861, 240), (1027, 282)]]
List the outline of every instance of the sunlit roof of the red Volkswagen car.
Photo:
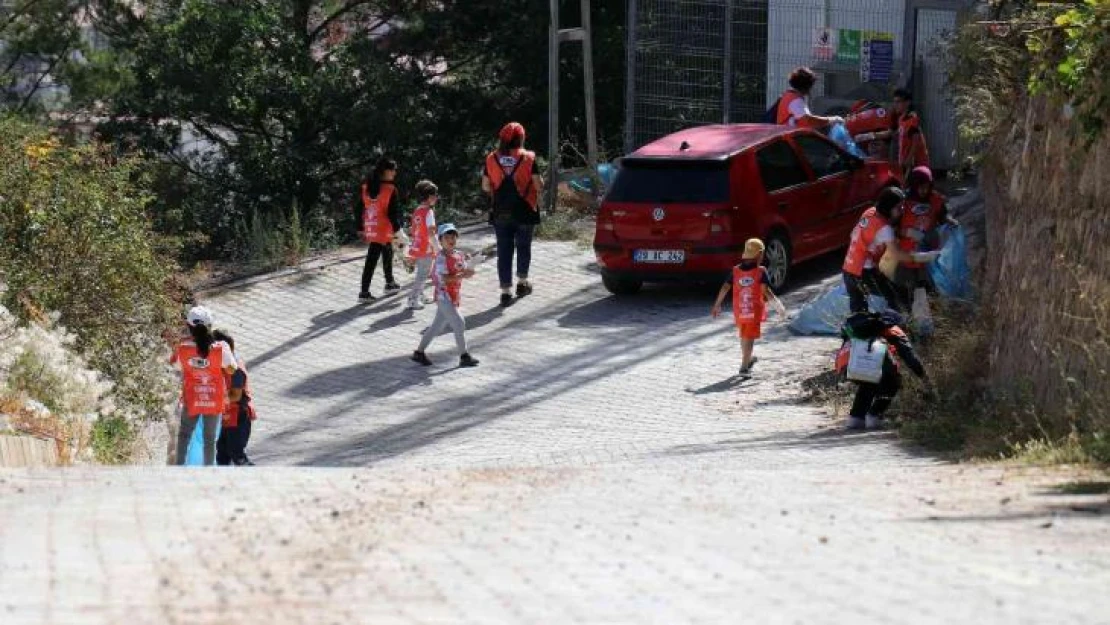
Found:
[[(768, 139), (789, 134), (798, 129), (769, 123), (729, 123), (697, 125), (656, 139), (636, 150), (637, 159), (725, 160)], [(686, 149), (683, 149), (683, 144)]]

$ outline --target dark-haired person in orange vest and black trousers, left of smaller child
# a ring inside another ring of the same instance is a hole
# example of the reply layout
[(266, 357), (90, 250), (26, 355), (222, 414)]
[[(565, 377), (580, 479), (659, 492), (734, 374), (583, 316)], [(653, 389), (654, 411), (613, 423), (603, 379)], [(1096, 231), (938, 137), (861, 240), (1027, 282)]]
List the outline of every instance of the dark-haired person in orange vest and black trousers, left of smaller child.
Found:
[(393, 279), (393, 236), (401, 232), (401, 201), (397, 198), (393, 179), (397, 174), (397, 163), (391, 159), (381, 159), (374, 165), (374, 171), (362, 183), (360, 201), (356, 202), (355, 223), (359, 235), (370, 244), (366, 250), (366, 264), (362, 268), (362, 289), (359, 300), (370, 301), (370, 281), (374, 276), (377, 260), (382, 259), (382, 272), (385, 274), (385, 294), (401, 290)]

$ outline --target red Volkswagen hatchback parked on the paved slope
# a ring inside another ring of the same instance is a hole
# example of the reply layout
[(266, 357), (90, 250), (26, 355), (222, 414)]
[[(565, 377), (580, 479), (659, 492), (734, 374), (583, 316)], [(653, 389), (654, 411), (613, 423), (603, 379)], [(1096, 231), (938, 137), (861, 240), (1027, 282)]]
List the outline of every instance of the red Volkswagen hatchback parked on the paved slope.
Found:
[(718, 281), (759, 236), (775, 290), (795, 263), (844, 248), (860, 212), (898, 184), (824, 134), (768, 124), (690, 128), (620, 160), (602, 201), (594, 251), (605, 288)]

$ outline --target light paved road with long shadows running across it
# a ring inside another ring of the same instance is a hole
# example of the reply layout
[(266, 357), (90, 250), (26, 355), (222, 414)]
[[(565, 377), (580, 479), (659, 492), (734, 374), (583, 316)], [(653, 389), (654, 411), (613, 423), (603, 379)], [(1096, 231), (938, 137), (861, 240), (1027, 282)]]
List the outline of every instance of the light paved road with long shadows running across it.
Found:
[(265, 466), (0, 474), (0, 623), (1110, 623), (1106, 484), (847, 434), (797, 403), (835, 341), (773, 323), (740, 382), (710, 292), (591, 261), (507, 310), (484, 263), (474, 370), (359, 259), (212, 294)]

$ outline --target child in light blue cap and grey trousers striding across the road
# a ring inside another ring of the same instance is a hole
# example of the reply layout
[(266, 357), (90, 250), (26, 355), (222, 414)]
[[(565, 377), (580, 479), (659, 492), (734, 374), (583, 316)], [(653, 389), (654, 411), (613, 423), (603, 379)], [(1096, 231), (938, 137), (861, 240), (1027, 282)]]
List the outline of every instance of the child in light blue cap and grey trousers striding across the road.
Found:
[(466, 320), (458, 312), (463, 280), (472, 278), (474, 270), (467, 266), (466, 255), (455, 248), (458, 243), (458, 230), (454, 224), (441, 225), (438, 235), (441, 249), (435, 255), (435, 265), (432, 269), (432, 281), (435, 284), (435, 320), (424, 331), (424, 337), (413, 352), (412, 360), (424, 366), (431, 365), (432, 361), (424, 350), (445, 326), (450, 326), (455, 333), (455, 344), (458, 345), (458, 366), (477, 366), (478, 360), (466, 350)]

